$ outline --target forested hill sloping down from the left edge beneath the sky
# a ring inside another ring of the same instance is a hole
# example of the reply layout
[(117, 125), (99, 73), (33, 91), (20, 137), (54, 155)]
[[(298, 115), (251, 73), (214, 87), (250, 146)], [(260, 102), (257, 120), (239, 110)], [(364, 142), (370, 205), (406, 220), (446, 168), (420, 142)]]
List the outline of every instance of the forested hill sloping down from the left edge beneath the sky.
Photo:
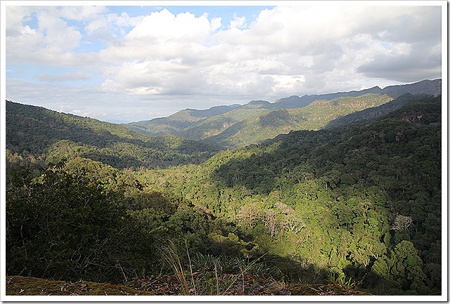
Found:
[[(219, 149), (175, 136), (148, 137), (118, 124), (6, 100), (8, 155), (46, 163), (84, 157), (115, 168), (160, 168), (204, 161)], [(11, 153), (10, 153), (11, 152)]]

